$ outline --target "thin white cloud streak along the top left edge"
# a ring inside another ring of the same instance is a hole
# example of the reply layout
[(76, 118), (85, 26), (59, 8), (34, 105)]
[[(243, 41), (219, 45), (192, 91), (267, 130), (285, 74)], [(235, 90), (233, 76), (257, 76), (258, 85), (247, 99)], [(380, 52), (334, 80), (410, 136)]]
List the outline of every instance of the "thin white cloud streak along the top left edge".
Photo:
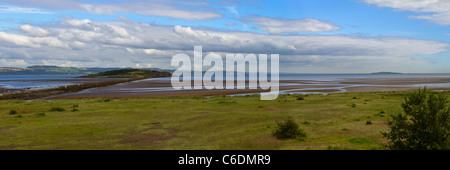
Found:
[[(81, 0), (4, 0), (2, 2), (10, 5), (33, 7), (29, 9), (35, 9), (35, 7), (38, 7), (51, 10), (80, 10), (102, 15), (114, 15), (116, 13), (134, 13), (145, 16), (161, 16), (185, 20), (211, 20), (214, 18), (222, 17), (221, 14), (211, 11), (209, 8), (207, 8), (207, 2), (190, 3), (184, 2), (182, 0), (108, 0), (87, 2), (83, 2)], [(175, 6), (174, 4), (181, 4), (183, 6), (187, 6), (188, 8), (180, 7), (180, 5)]]

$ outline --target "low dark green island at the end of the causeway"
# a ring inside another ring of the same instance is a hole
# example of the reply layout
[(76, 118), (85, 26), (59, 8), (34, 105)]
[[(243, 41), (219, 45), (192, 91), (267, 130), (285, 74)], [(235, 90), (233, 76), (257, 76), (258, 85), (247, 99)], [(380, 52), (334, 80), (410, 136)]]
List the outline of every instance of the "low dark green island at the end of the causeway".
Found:
[(160, 72), (160, 71), (150, 71), (142, 69), (121, 69), (121, 70), (111, 70), (106, 72), (101, 72), (97, 74), (89, 74), (86, 76), (81, 76), (83, 78), (94, 78), (94, 77), (104, 77), (104, 78), (137, 78), (137, 77), (170, 77), (172, 74), (170, 72)]

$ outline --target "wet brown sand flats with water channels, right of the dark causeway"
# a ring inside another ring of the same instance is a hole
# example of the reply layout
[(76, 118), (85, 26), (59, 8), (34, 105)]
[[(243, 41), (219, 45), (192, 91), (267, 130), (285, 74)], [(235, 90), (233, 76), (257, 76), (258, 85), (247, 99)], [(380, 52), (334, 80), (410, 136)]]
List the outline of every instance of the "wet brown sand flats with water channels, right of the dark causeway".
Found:
[[(236, 82), (235, 82), (236, 83)], [(248, 81), (246, 82), (248, 83)], [(224, 83), (225, 84), (225, 83)], [(280, 80), (281, 93), (336, 93), (336, 92), (378, 92), (408, 91), (427, 86), (432, 90), (450, 90), (450, 77), (415, 77), (415, 78), (347, 78), (335, 81), (317, 80)], [(47, 97), (45, 99), (80, 99), (80, 98), (145, 98), (145, 97), (181, 97), (213, 96), (232, 94), (252, 94), (268, 92), (262, 89), (201, 89), (175, 90), (170, 79), (156, 78), (138, 80), (128, 83), (86, 89)]]

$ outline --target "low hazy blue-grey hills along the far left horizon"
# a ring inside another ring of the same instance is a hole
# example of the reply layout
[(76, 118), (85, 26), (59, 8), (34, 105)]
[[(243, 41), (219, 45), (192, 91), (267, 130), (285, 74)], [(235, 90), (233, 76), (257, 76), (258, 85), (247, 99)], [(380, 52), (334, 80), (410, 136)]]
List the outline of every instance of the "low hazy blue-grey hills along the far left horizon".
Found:
[[(111, 70), (121, 70), (124, 68), (77, 68), (77, 67), (58, 67), (58, 66), (29, 66), (26, 68), (16, 68), (16, 67), (0, 67), (0, 75), (88, 75), (101, 73)], [(132, 68), (126, 68), (132, 69)], [(158, 68), (146, 68), (143, 70), (149, 71), (171, 71), (163, 70)]]

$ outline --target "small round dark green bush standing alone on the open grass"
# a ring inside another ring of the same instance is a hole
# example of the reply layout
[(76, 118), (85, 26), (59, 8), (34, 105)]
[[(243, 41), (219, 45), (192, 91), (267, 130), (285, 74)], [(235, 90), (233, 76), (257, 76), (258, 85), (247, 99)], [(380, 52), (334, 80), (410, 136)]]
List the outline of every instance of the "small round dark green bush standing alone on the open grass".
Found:
[(289, 117), (283, 122), (277, 122), (277, 126), (273, 135), (278, 139), (299, 139), (306, 137), (306, 133), (299, 128), (298, 124)]

